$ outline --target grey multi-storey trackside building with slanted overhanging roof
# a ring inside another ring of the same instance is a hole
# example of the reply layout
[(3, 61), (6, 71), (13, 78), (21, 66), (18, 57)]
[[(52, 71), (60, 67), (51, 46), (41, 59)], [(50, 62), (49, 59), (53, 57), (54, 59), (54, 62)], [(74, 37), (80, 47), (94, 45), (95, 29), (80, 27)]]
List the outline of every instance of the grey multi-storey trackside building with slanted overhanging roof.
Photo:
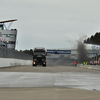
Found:
[[(13, 21), (17, 20), (7, 20), (0, 22), (0, 46), (15, 50), (16, 38), (17, 38), (17, 29), (10, 29), (10, 26)], [(8, 28), (5, 23), (10, 23)]]

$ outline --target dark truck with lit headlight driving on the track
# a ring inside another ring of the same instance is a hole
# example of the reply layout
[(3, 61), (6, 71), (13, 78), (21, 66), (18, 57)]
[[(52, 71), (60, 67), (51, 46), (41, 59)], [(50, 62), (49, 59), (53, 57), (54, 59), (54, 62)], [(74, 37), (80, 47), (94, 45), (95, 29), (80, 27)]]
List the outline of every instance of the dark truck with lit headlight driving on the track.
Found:
[(33, 66), (37, 65), (46, 67), (46, 50), (43, 47), (36, 47), (33, 50)]

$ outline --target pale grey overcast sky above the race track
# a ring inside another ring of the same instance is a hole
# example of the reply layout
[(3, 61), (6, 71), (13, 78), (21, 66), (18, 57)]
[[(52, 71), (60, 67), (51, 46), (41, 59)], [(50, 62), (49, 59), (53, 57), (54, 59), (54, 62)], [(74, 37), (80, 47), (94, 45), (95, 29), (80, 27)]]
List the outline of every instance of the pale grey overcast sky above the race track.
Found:
[(9, 19), (18, 19), (18, 50), (70, 49), (100, 32), (100, 0), (0, 0), (0, 21)]

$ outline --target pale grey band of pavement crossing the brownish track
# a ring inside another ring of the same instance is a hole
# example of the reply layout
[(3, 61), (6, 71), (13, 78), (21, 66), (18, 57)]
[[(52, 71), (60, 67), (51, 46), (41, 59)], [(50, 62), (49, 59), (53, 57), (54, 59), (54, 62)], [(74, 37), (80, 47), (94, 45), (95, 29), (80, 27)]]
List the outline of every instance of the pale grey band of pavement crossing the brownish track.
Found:
[(0, 72), (0, 87), (64, 87), (100, 91), (100, 74)]

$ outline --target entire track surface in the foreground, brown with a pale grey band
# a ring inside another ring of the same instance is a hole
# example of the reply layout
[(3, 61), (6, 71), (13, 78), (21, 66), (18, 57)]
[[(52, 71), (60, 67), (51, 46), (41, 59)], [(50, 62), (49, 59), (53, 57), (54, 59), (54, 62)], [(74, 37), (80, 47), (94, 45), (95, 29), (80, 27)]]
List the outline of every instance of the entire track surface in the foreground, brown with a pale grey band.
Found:
[(99, 100), (99, 94), (97, 70), (74, 66), (0, 69), (0, 100)]

